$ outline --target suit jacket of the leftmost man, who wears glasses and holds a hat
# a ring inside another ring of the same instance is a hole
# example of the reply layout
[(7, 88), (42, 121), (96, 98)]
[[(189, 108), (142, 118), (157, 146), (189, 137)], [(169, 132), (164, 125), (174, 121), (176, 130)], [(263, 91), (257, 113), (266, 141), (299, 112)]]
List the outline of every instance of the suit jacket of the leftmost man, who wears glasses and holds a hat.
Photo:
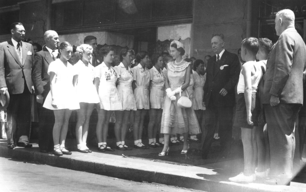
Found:
[(23, 93), (25, 77), (27, 88), (32, 92), (33, 57), (32, 44), (22, 42), (22, 66), (12, 40), (0, 43), (0, 87), (7, 87), (10, 94)]

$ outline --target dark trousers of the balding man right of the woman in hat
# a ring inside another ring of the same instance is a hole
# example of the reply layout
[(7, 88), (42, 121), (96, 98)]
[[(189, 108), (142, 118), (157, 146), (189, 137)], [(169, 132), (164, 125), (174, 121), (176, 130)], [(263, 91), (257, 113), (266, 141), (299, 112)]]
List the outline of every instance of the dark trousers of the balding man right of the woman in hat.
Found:
[(220, 145), (223, 152), (230, 152), (233, 127), (233, 107), (216, 107), (210, 104), (206, 107), (204, 129), (202, 130), (202, 158), (207, 158), (214, 141), (216, 125), (219, 122)]

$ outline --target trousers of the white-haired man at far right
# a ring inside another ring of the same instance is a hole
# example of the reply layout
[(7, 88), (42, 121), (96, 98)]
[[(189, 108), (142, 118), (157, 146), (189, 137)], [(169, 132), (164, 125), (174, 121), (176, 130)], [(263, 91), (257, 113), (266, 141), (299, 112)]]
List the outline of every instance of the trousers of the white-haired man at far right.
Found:
[(291, 178), (295, 150), (295, 120), (301, 104), (264, 104), (271, 154), (271, 175)]

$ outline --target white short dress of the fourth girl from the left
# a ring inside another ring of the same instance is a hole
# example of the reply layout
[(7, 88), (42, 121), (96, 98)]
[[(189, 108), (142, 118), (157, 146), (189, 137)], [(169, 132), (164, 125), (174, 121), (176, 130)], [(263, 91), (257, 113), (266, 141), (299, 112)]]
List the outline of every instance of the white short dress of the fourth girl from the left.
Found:
[(126, 70), (122, 62), (114, 68), (117, 70), (119, 76), (117, 79), (117, 89), (123, 110), (136, 111), (136, 101), (132, 89), (132, 82), (134, 81), (132, 69), (129, 67), (128, 70)]

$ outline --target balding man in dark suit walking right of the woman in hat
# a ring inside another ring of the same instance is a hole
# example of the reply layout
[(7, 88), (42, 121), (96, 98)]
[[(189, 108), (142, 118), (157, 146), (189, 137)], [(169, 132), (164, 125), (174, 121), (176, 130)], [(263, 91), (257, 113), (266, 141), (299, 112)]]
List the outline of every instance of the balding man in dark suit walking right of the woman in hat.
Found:
[(206, 159), (219, 123), (222, 156), (230, 152), (232, 138), (235, 85), (239, 78), (239, 58), (226, 51), (221, 36), (211, 39), (216, 55), (208, 60), (203, 102), (206, 106), (204, 130), (202, 131), (202, 158)]

